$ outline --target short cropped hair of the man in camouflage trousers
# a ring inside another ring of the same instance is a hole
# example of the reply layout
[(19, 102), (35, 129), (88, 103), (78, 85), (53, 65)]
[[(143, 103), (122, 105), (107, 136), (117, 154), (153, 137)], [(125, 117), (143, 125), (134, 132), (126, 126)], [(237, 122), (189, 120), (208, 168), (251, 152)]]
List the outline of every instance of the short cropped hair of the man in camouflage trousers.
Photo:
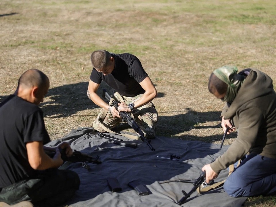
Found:
[(96, 50), (91, 54), (91, 63), (97, 70), (101, 70), (110, 64), (111, 55), (106, 50)]

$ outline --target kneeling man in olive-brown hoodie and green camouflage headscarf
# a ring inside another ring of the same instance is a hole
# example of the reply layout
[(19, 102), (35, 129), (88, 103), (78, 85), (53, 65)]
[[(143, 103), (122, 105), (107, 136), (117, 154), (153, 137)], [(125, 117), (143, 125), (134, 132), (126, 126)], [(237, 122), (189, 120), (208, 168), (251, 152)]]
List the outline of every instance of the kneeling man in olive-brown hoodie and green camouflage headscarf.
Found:
[(234, 66), (223, 66), (209, 78), (208, 89), (226, 101), (221, 125), (229, 134), (237, 129), (237, 138), (228, 150), (205, 165), (206, 182), (216, 178), (239, 159), (241, 164), (224, 183), (233, 197), (276, 193), (276, 93), (271, 78), (256, 69), (237, 73)]

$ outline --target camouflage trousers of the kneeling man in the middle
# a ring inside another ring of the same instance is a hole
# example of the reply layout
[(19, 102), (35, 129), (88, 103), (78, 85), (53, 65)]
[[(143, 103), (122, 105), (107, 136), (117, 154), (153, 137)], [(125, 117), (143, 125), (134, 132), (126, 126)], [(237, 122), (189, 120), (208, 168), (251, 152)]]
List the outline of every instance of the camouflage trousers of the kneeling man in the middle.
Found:
[[(141, 97), (142, 94), (137, 95), (135, 97), (127, 97), (121, 96), (117, 92), (114, 93), (114, 98), (119, 103), (124, 102), (126, 104), (129, 104), (131, 102), (139, 100)], [(146, 138), (151, 139), (156, 135), (156, 123), (158, 120), (158, 113), (152, 102), (149, 102), (148, 104), (145, 104), (144, 106), (135, 109), (130, 114), (133, 115), (135, 122), (144, 132)], [(107, 127), (108, 129), (112, 129), (118, 126), (122, 121), (122, 118), (114, 118), (111, 113), (102, 108), (97, 119), (93, 122), (93, 128), (99, 132), (105, 132), (105, 130), (101, 127), (99, 119), (101, 120), (101, 122), (105, 124), (105, 127)]]

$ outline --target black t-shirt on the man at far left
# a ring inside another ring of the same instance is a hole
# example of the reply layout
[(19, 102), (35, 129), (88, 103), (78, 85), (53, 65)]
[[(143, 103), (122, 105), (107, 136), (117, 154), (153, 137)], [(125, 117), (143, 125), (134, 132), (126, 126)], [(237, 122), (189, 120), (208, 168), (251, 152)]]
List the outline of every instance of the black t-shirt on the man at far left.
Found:
[(26, 143), (50, 141), (42, 110), (24, 99), (10, 95), (0, 104), (0, 188), (35, 177)]

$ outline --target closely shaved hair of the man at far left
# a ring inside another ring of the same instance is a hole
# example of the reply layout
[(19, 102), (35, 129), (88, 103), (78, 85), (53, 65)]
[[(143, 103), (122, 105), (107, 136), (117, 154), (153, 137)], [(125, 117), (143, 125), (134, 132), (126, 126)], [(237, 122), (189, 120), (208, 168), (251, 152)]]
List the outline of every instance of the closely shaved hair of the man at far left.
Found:
[(34, 86), (43, 87), (49, 82), (49, 78), (40, 70), (30, 69), (25, 71), (18, 80), (18, 86), (31, 88)]

